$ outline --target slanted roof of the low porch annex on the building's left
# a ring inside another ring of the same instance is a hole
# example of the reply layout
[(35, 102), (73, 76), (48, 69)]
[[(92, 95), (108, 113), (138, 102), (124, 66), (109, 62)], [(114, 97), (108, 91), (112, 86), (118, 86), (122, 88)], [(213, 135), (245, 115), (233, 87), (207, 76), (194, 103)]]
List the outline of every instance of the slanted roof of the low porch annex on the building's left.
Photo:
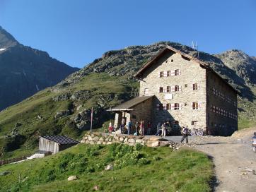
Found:
[(112, 112), (112, 111), (132, 111), (133, 110), (132, 107), (134, 107), (137, 104), (140, 104), (141, 102), (149, 100), (149, 98), (151, 98), (151, 97), (153, 97), (153, 96), (135, 97), (134, 99), (124, 102), (112, 109), (108, 109), (107, 111), (110, 111), (110, 112)]

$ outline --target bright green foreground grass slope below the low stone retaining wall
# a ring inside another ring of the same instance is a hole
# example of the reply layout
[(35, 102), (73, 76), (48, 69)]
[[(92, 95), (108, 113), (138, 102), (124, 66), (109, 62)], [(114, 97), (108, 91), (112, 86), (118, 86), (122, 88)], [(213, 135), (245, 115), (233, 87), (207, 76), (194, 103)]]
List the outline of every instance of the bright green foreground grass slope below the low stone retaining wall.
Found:
[[(107, 164), (114, 169), (105, 171)], [(213, 164), (202, 152), (141, 145), (76, 145), (57, 155), (0, 167), (0, 191), (211, 191)], [(21, 174), (21, 184), (18, 178)], [(67, 181), (70, 175), (76, 181)]]

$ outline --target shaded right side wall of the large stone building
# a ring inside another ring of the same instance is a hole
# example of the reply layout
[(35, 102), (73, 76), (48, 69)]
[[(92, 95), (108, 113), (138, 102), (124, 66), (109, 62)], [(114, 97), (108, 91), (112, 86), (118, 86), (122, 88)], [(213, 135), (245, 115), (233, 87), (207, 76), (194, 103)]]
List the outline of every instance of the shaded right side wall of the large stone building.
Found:
[(238, 130), (236, 92), (207, 71), (207, 127), (211, 135), (229, 136)]

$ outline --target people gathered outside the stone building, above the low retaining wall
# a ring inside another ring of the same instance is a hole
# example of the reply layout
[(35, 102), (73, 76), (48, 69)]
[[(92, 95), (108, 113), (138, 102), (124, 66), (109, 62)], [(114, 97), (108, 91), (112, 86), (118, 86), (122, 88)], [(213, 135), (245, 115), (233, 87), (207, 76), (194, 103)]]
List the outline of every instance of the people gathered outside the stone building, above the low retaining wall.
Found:
[[(112, 131), (115, 131), (117, 128), (112, 126), (112, 123), (110, 122), (110, 126), (108, 128), (108, 132), (112, 133)], [(127, 121), (125, 124), (125, 119), (122, 119), (121, 125), (120, 125), (120, 131), (123, 134), (128, 134), (131, 135), (133, 134), (134, 136), (144, 136), (144, 135), (151, 135), (151, 121), (148, 122), (148, 124), (145, 125), (144, 121), (136, 121), (136, 123), (133, 125), (132, 121)], [(156, 136), (162, 136), (165, 137), (166, 134), (170, 131), (170, 122), (165, 121), (163, 124), (161, 122), (158, 123), (156, 126)], [(182, 127), (182, 139), (181, 143), (183, 140), (186, 139), (186, 143), (188, 143), (188, 128), (187, 126)]]

